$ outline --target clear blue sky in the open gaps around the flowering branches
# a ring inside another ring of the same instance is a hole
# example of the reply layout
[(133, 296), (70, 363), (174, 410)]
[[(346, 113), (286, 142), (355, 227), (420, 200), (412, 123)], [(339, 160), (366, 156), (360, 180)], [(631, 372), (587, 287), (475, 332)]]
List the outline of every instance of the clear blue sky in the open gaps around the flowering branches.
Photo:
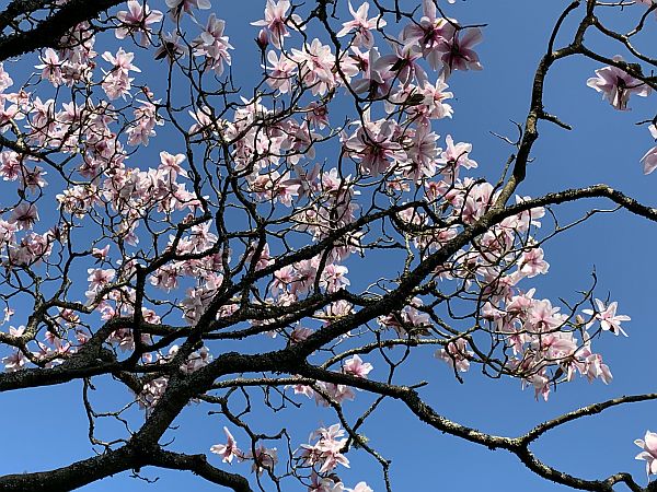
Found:
[[(456, 95), (452, 102), (454, 117), (441, 120), (435, 127), (441, 136), (451, 133), (456, 141), (473, 143), (471, 155), (480, 164), (479, 175), (496, 179), (511, 152), (508, 144), (491, 132), (512, 137), (515, 126), (510, 120), (523, 121), (533, 71), (545, 49), (552, 25), (567, 3), (563, 0), (468, 0), (448, 7), (448, 12), (463, 23), (487, 24), (484, 42), (477, 49), (484, 70), (453, 75), (450, 90)], [(235, 81), (247, 89), (250, 80), (260, 73), (253, 44), (257, 28), (249, 22), (261, 17), (264, 2), (214, 1), (214, 4), (217, 15), (227, 20), (227, 34), (235, 47)], [(164, 10), (157, 2), (151, 5)], [(657, 20), (652, 17), (649, 22)], [(396, 31), (391, 26), (391, 32)], [(566, 25), (564, 32), (572, 33), (572, 25)], [(621, 52), (620, 48), (595, 37), (590, 43), (610, 57)], [(100, 48), (99, 44), (96, 49)], [(137, 58), (137, 65), (145, 72), (163, 68), (145, 55), (138, 54)], [(586, 86), (587, 78), (592, 77), (597, 68), (600, 68), (598, 63), (581, 57), (554, 67), (548, 79), (545, 108), (573, 125), (574, 130), (567, 132), (551, 124), (541, 124), (541, 138), (533, 152), (535, 160), (529, 166), (521, 192), (539, 196), (563, 188), (607, 183), (645, 203), (654, 203), (657, 174), (643, 176), (638, 162), (653, 142), (647, 129), (634, 124), (653, 117), (650, 104), (655, 95), (647, 101), (632, 99), (632, 112), (615, 112)], [(20, 79), (14, 77), (14, 80)], [(157, 83), (152, 86), (157, 91)], [(164, 133), (160, 136), (161, 139), (165, 137)], [(164, 144), (161, 141), (152, 145), (152, 151), (160, 150)], [(563, 207), (557, 209), (558, 216), (567, 221), (595, 206), (606, 204), (588, 201)], [(627, 339), (608, 333), (598, 341), (598, 350), (604, 354), (614, 375), (609, 386), (599, 380), (589, 385), (585, 379), (578, 379), (562, 385), (548, 402), (537, 402), (531, 390), (521, 391), (516, 380), (492, 380), (472, 372), (465, 375), (465, 383), (461, 385), (447, 366), (430, 356), (430, 350), (420, 351), (422, 356), (416, 356), (406, 367), (404, 377), (431, 382), (423, 396), (439, 413), (503, 435), (521, 434), (543, 420), (593, 401), (654, 391), (656, 354), (652, 308), (655, 306), (653, 277), (657, 263), (652, 246), (656, 239), (655, 227), (645, 220), (624, 212), (595, 216), (549, 242), (544, 249), (551, 265), (550, 273), (525, 284), (526, 288), (535, 285), (537, 296), (541, 298), (575, 298), (577, 291), (588, 288), (590, 273), (596, 269), (599, 296), (604, 297), (609, 292), (619, 301), (620, 312), (632, 316), (632, 321), (626, 324)], [(351, 271), (351, 277), (369, 278), (376, 269), (377, 265), (372, 265), (371, 271)], [(376, 376), (374, 371), (372, 377)], [(96, 401), (101, 405), (125, 399), (125, 394), (117, 391), (110, 380), (101, 378), (97, 387)], [(353, 412), (358, 408), (362, 408), (362, 402), (346, 403), (345, 410)], [(315, 409), (312, 403), (304, 409), (302, 412), (280, 412), (275, 417), (277, 421), (270, 420), (269, 415), (260, 415), (261, 424), (275, 427), (286, 422), (297, 430), (296, 444), (300, 444), (316, 425), (336, 421), (330, 411)], [(191, 406), (184, 411), (176, 421), (178, 430), (169, 434), (175, 438), (173, 448), (206, 453), (212, 444), (223, 442), (223, 423), (208, 417), (207, 410)], [(639, 483), (645, 483), (644, 464), (634, 460), (638, 448), (633, 440), (643, 437), (646, 429), (657, 429), (656, 410), (655, 402), (609, 410), (545, 435), (534, 445), (534, 450), (546, 464), (583, 478), (597, 479), (616, 471), (631, 471)], [(5, 444), (0, 460), (1, 473), (36, 471), (90, 456), (79, 382), (3, 395), (2, 415)], [(364, 433), (383, 456), (392, 459), (394, 490), (566, 490), (535, 477), (505, 452), (491, 452), (416, 422), (408, 411), (394, 402), (385, 403)], [(362, 453), (350, 453), (349, 458), (351, 469), (339, 472), (347, 485), (366, 480), (374, 491), (383, 490), (381, 475), (371, 459)], [(219, 459), (210, 459), (220, 466)], [(237, 472), (247, 473), (247, 468), (245, 464), (232, 466)], [(84, 490), (217, 490), (186, 472), (145, 469), (143, 475), (160, 479), (154, 484), (147, 484), (123, 473)], [(623, 489), (619, 487), (619, 490)]]

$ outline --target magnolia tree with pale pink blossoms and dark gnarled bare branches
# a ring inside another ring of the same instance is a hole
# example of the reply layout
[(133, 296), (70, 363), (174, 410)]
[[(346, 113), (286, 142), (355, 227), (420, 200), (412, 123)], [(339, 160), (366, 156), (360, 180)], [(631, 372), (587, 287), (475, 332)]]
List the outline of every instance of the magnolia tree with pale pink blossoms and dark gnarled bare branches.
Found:
[[(470, 154), (484, 157), (452, 139), (450, 118), (472, 77), (458, 72), (483, 68), (484, 25), (454, 19), (454, 0), (402, 3), (267, 0), (262, 17), (228, 24), (209, 0), (12, 0), (0, 12), (0, 390), (78, 380), (91, 444), (88, 459), (0, 477), (1, 491), (72, 490), (145, 467), (234, 491), (390, 491), (376, 429), (361, 432), (388, 400), (546, 480), (657, 490), (626, 472), (568, 475), (530, 449), (657, 394), (499, 436), (442, 417), (426, 401), (431, 385), (399, 376), (419, 356), (458, 379), (517, 379), (538, 400), (565, 383), (610, 383), (596, 345), (626, 336), (630, 317), (595, 277), (563, 300), (532, 283), (549, 270), (545, 241), (595, 212), (564, 225), (554, 206), (598, 197), (649, 221), (657, 210), (607, 185), (533, 198), (519, 186), (539, 126), (569, 128), (543, 105), (563, 59), (595, 60), (579, 83), (618, 110), (657, 87), (645, 74), (657, 59), (635, 47), (657, 4), (564, 5), (520, 137), (482, 178)], [(612, 30), (601, 10), (632, 27)], [(262, 67), (257, 80), (233, 77), (240, 30), (261, 54), (244, 60)], [(590, 32), (615, 49), (593, 50)], [(657, 148), (642, 162), (653, 172)], [(122, 397), (94, 391), (101, 379)], [(212, 415), (205, 454), (164, 438), (188, 406)], [(321, 407), (332, 420), (299, 433), (293, 415)], [(272, 432), (267, 415), (283, 409), (290, 425)], [(657, 434), (634, 437), (657, 475)], [(382, 479), (343, 481), (358, 455)]]

